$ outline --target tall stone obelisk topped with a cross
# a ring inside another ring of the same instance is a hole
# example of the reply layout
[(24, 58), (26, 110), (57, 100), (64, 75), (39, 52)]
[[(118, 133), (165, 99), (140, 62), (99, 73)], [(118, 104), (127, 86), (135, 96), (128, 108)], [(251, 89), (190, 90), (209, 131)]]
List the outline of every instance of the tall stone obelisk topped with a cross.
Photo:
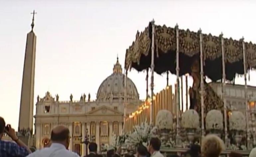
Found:
[(33, 131), (34, 78), (37, 38), (33, 32), (35, 11), (32, 14), (32, 30), (27, 34), (19, 117), (19, 131), (23, 129), (28, 131), (29, 129), (31, 132)]

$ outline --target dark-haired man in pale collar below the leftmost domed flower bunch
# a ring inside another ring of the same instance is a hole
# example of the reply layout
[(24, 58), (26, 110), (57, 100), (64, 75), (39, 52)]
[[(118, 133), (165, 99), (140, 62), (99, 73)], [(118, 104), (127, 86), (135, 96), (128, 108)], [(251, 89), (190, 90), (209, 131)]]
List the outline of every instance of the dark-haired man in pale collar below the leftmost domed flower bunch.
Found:
[(164, 157), (160, 153), (161, 141), (157, 137), (152, 137), (149, 142), (148, 152), (151, 154), (151, 157)]

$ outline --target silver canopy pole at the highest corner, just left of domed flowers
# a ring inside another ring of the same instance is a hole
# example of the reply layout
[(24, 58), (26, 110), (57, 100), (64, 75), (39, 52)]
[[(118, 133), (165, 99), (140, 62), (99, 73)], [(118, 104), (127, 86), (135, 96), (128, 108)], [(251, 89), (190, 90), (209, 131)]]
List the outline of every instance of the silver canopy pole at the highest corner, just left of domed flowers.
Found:
[(151, 21), (152, 25), (152, 43), (151, 43), (151, 103), (150, 103), (150, 122), (153, 122), (153, 97), (154, 97), (154, 51), (155, 51), (155, 21), (154, 19)]

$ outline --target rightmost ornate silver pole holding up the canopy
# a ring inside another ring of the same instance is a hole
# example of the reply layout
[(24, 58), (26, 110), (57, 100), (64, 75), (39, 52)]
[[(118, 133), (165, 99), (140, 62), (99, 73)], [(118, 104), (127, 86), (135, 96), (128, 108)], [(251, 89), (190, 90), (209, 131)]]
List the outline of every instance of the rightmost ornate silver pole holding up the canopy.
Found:
[(244, 38), (242, 38), (242, 44), (243, 44), (243, 62), (244, 62), (244, 98), (245, 98), (245, 108), (246, 108), (246, 113), (245, 113), (245, 118), (246, 118), (246, 136), (247, 136), (247, 149), (249, 147), (249, 142), (250, 142), (250, 137), (249, 137), (249, 124), (248, 124), (248, 100), (247, 100), (247, 79), (246, 79), (246, 74), (247, 74), (247, 65), (246, 65), (246, 54), (245, 54), (245, 44), (244, 44)]

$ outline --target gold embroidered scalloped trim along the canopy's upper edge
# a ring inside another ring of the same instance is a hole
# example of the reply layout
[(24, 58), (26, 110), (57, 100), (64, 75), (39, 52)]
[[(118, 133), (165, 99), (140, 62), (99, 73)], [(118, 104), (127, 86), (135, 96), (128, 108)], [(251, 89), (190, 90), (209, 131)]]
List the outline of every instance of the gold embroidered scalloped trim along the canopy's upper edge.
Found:
[[(151, 39), (149, 37), (149, 27), (141, 33), (137, 31), (136, 39), (126, 50), (125, 69), (130, 69), (132, 63), (140, 64), (141, 55), (148, 56)], [(220, 58), (221, 54), (221, 36), (212, 36), (211, 34), (202, 34), (202, 46), (204, 59), (214, 60)], [(192, 32), (189, 29), (179, 30), (179, 48), (180, 52), (192, 57), (200, 52), (199, 33)], [(166, 25), (155, 25), (155, 43), (156, 54), (169, 53), (176, 51), (176, 31), (175, 28)], [(249, 68), (256, 66), (256, 44), (245, 43), (246, 60)], [(242, 41), (232, 38), (224, 39), (225, 62), (234, 63), (243, 59)]]

